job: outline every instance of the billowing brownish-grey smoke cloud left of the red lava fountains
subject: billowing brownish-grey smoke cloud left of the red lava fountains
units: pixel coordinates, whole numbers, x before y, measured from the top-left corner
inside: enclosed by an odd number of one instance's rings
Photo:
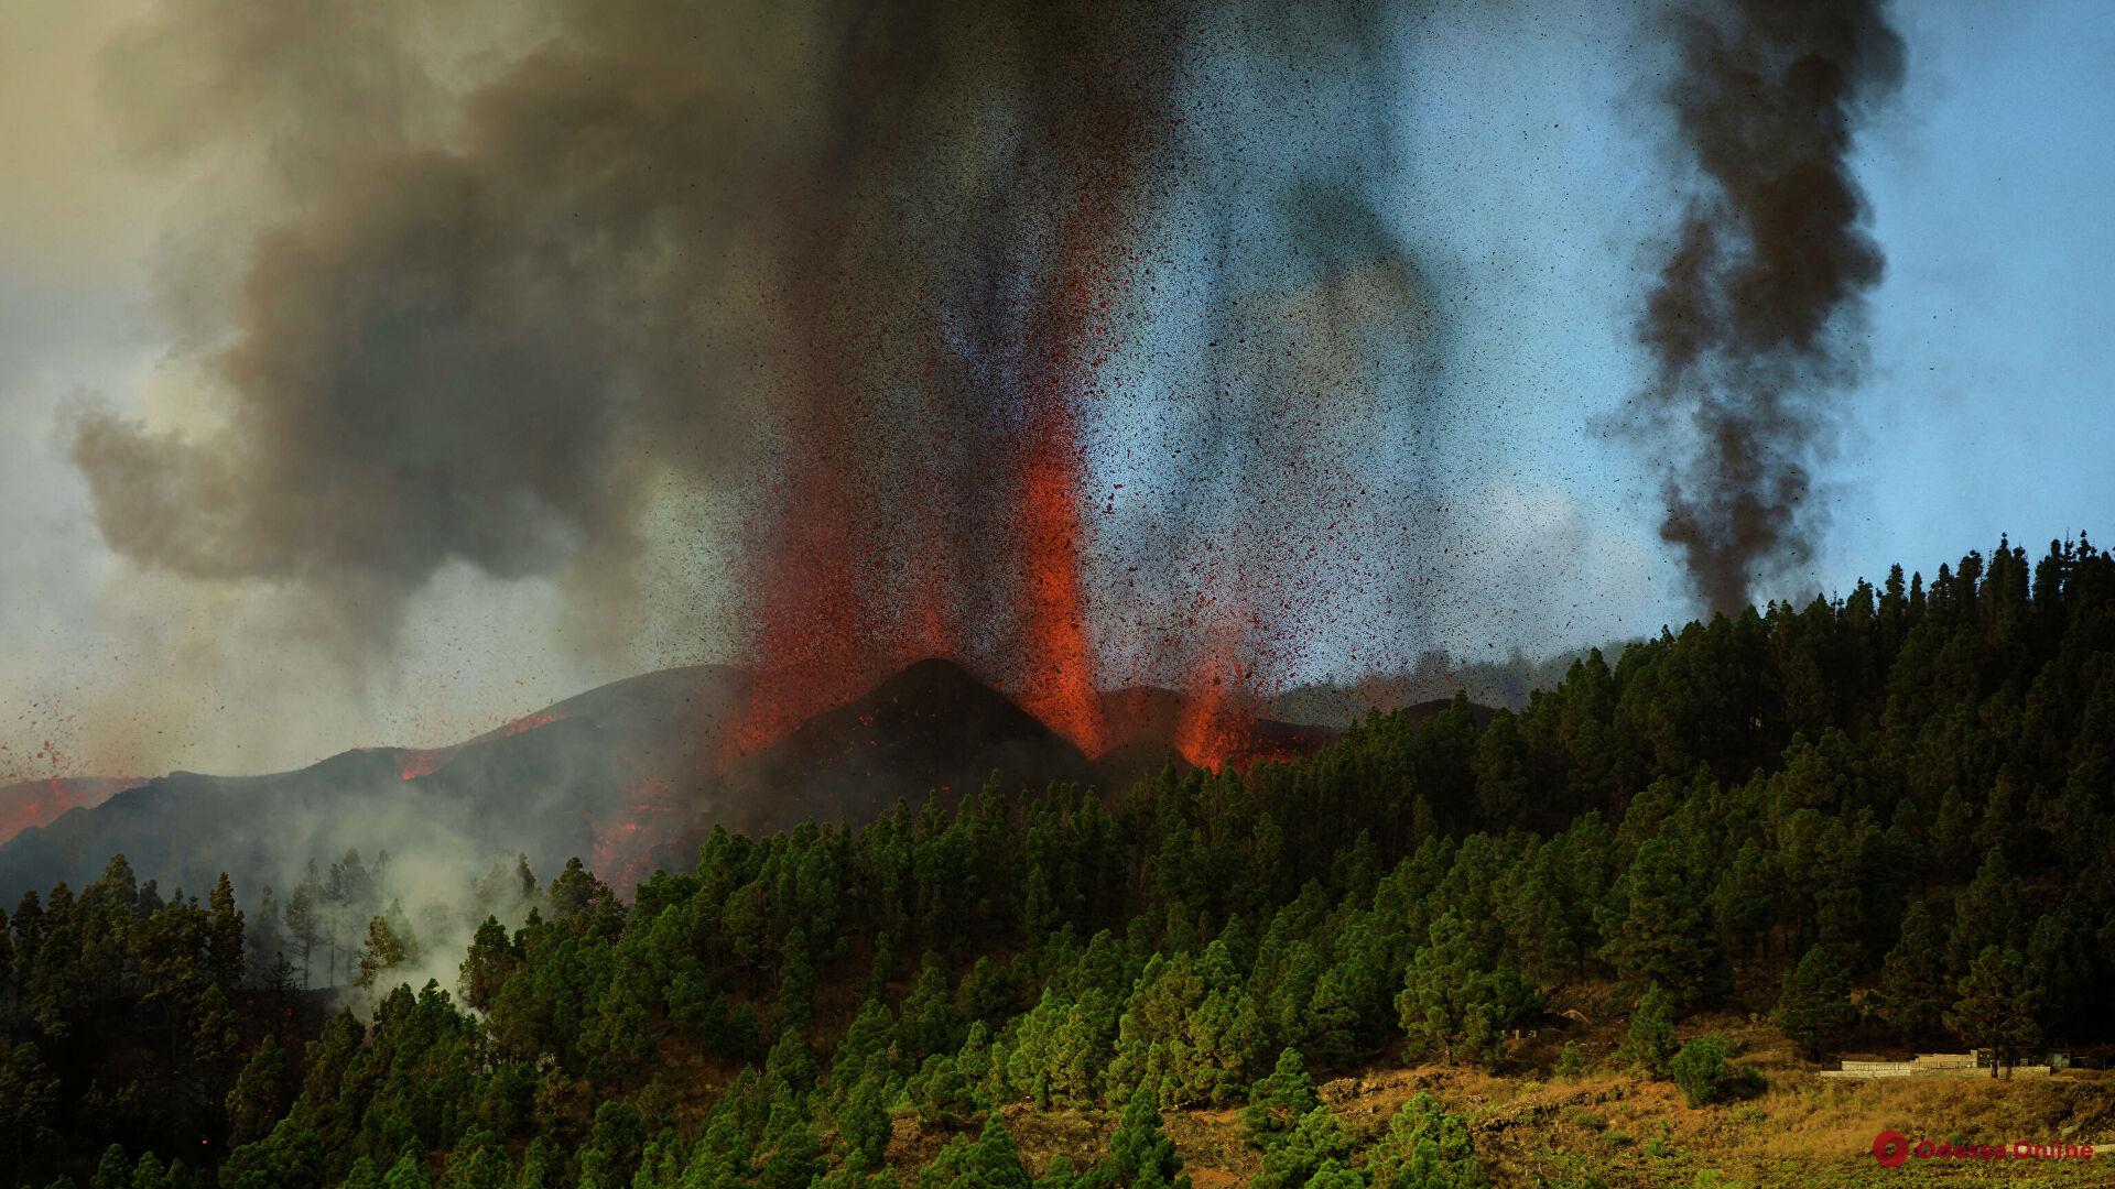
[[[757,118],[768,70],[675,6],[544,19],[467,93],[412,6],[222,0],[114,47],[140,152],[182,171],[260,146],[264,209],[171,254],[167,307],[231,311],[182,347],[218,421],[76,429],[110,546],[302,584],[387,639],[448,563],[582,567],[607,594],[656,476],[740,457],[742,241],[787,140]]]

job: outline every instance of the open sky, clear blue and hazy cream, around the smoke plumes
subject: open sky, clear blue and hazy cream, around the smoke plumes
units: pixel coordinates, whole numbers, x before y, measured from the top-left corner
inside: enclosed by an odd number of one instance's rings
[[[563,647],[550,584],[459,571],[412,607],[389,681],[355,690],[241,656],[228,624],[273,639],[288,607],[178,588],[102,546],[66,461],[68,410],[152,413],[178,385],[159,370],[171,330],[152,277],[182,258],[167,212],[184,195],[123,167],[93,85],[99,42],[137,6],[25,0],[0,38],[0,776],[34,772],[44,738],[106,755],[112,732],[157,738],[140,764],[214,770],[434,743],[689,660],[660,641],[584,658]],[[2077,529],[2115,544],[2115,8],[1933,0],[1895,19],[1908,78],[1857,148],[1887,252],[1870,368],[1821,470],[1815,567],[1764,594],[1840,592],[1895,561],[1929,571],[1999,533],[2030,550]],[[1656,482],[1597,432],[1641,374],[1629,326],[1675,216],[1652,38],[1605,6],[1464,4],[1406,28],[1398,51],[1396,169],[1373,201],[1442,303],[1449,413],[1428,429],[1445,449],[1417,465],[1459,506],[1449,552],[1415,563],[1445,569],[1419,641],[1542,652],[1688,618],[1654,537]],[[1121,480],[1144,465],[1155,413],[1106,419],[1104,442],[1132,455],[1098,468]],[[178,664],[222,677],[182,692],[182,713],[157,709],[157,675]],[[273,721],[290,698],[330,713]]]

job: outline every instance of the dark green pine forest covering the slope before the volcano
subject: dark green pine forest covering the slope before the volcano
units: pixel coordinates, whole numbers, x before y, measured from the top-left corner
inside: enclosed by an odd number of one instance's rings
[[[0,1185],[1174,1187],[1197,1111],[1263,1185],[1485,1185],[1436,1098],[1381,1126],[1316,1081],[1519,1068],[1514,1028],[1610,986],[1698,1109],[1753,1085],[1690,1018],[1736,986],[1813,1051],[2109,1039],[2111,823],[2081,542],[1588,654],[1487,726],[717,831],[628,903],[573,863],[436,918],[349,855],[245,912],[118,857],[0,920]],[[438,937],[470,944],[408,986]],[[1688,1151],[1610,1119],[1610,1159]],[[1053,1121],[1064,1159],[1024,1138]]]

